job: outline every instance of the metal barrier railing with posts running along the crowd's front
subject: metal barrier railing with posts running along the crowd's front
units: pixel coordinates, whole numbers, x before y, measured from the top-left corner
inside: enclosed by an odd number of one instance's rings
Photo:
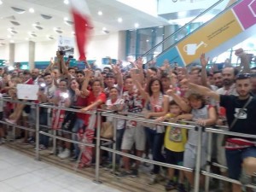
[[[0,100],[1,100],[1,98],[0,98]],[[8,102],[9,101],[11,101],[11,100],[8,100]],[[14,102],[17,102],[17,101],[14,101]],[[18,101],[18,102],[20,102],[20,101]],[[39,131],[39,118],[38,118],[39,117],[39,113],[38,113],[39,107],[43,107],[43,108],[44,107],[45,108],[59,108],[59,109],[62,109],[62,110],[68,110],[68,111],[82,113],[81,111],[79,111],[77,109],[72,109],[72,108],[61,108],[61,107],[55,107],[55,106],[48,106],[48,105],[44,105],[44,104],[35,104],[35,106],[37,108],[37,114],[36,114],[37,115],[36,134],[41,134],[41,135],[44,135],[44,136],[53,137],[55,139],[60,139],[62,141],[66,141],[66,142],[69,142],[69,143],[77,143],[77,144],[82,145],[82,146],[96,147],[96,154],[97,154],[96,155],[97,156],[96,169],[95,169],[95,171],[96,171],[96,183],[101,183],[101,181],[99,180],[99,174],[100,174],[100,172],[99,172],[100,149],[107,150],[107,151],[109,151],[109,152],[111,152],[113,154],[123,155],[123,156],[129,157],[129,158],[134,159],[134,160],[140,160],[140,161],[148,162],[148,163],[151,163],[151,164],[154,164],[154,165],[158,165],[158,166],[166,166],[166,167],[171,167],[173,169],[183,170],[183,171],[186,171],[186,172],[193,172],[193,170],[188,168],[188,167],[170,165],[170,164],[161,163],[161,162],[155,161],[155,160],[147,160],[147,159],[144,159],[142,157],[138,157],[136,155],[126,154],[124,152],[117,151],[117,150],[115,150],[113,148],[105,147],[105,145],[107,145],[107,144],[114,143],[115,137],[113,138],[113,141],[109,141],[108,140],[108,143],[105,143],[105,144],[101,145],[100,144],[100,140],[101,140],[101,137],[100,137],[101,124],[100,124],[100,122],[101,122],[102,116],[105,116],[105,117],[113,117],[114,118],[114,122],[116,122],[116,119],[128,119],[128,120],[134,120],[134,121],[137,121],[137,122],[143,122],[143,123],[149,123],[149,124],[171,125],[171,126],[185,128],[185,129],[195,129],[195,127],[197,126],[196,124],[195,125],[179,125],[179,124],[170,123],[170,122],[157,122],[154,119],[144,119],[143,115],[139,114],[139,113],[132,113],[134,115],[131,115],[131,113],[126,113],[126,115],[122,115],[122,114],[119,114],[119,113],[113,113],[113,111],[108,111],[108,110],[91,111],[91,113],[90,112],[87,112],[87,113],[96,114],[97,115],[97,119],[96,120],[97,120],[98,124],[97,124],[97,129],[96,129],[96,131],[97,131],[97,134],[96,134],[96,144],[93,144],[93,143],[83,143],[83,142],[78,142],[78,141],[67,139],[67,138],[63,138],[63,137],[58,137],[58,136],[55,136],[53,134],[50,134],[50,133],[47,133],[47,132],[44,132],[44,131]],[[137,116],[140,116],[140,117],[137,117]],[[191,121],[183,121],[182,120],[182,121],[179,121],[179,122],[180,123],[187,122],[189,124],[193,124]],[[0,121],[0,123],[8,124],[8,123],[5,123],[4,121]],[[27,131],[34,131],[34,130],[29,129],[29,128],[20,126],[20,125],[14,125],[14,126],[20,128],[20,129],[25,129]],[[237,136],[237,137],[251,137],[251,138],[255,138],[256,139],[255,135],[237,133],[237,132],[233,132],[233,131],[224,131],[224,130],[216,129],[216,127],[218,127],[218,126],[214,126],[214,127],[215,128],[199,126],[199,129],[195,129],[196,131],[198,131],[198,136],[199,136],[198,137],[199,140],[197,141],[198,145],[197,145],[197,156],[196,156],[196,166],[195,166],[195,191],[198,191],[198,189],[199,189],[199,175],[200,175],[200,173],[202,173],[203,175],[205,175],[207,177],[216,177],[218,179],[221,179],[221,180],[224,180],[224,181],[229,181],[231,183],[240,183],[239,181],[236,181],[236,180],[231,179],[229,177],[222,177],[222,176],[219,176],[219,175],[211,173],[211,172],[204,172],[204,171],[200,170],[200,167],[201,167],[201,163],[200,163],[200,160],[201,160],[201,155],[200,155],[201,154],[201,151],[200,151],[201,150],[201,137],[200,136],[201,136],[202,131],[208,132],[208,134],[217,133],[217,134],[225,134],[225,135]],[[227,129],[226,126],[219,126],[218,128]],[[116,129],[116,124],[114,124],[114,129]],[[36,141],[37,141],[37,143],[36,143],[37,144],[36,145],[36,160],[38,160],[38,155],[39,155],[39,149],[38,149],[39,148],[39,144],[38,144],[39,137],[37,137]],[[213,166],[221,166],[223,168],[226,168],[225,166],[218,165],[217,163],[212,163],[212,165]],[[252,184],[247,185],[247,187],[256,189],[256,186],[254,186]]]

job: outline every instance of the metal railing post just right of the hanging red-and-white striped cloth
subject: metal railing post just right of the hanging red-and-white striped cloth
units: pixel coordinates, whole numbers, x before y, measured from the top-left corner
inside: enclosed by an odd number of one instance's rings
[[[97,128],[96,128],[96,168],[95,168],[95,180],[94,182],[97,184],[101,184],[102,182],[99,180],[100,177],[100,150],[101,150],[101,123],[102,123],[102,116],[100,112],[96,113],[96,121],[97,121]]]

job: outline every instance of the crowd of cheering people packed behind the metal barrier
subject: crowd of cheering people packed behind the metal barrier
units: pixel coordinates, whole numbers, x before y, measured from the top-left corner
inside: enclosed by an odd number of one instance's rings
[[[45,103],[57,107],[79,109],[81,113],[63,109],[40,108],[41,131],[56,131],[61,137],[84,143],[94,143],[96,136],[96,109],[111,110],[135,117],[143,114],[145,119],[155,122],[170,121],[185,124],[182,120],[195,121],[198,126],[227,125],[230,131],[256,134],[256,69],[250,68],[246,54],[239,49],[240,67],[226,65],[220,71],[207,70],[208,59],[201,55],[201,65],[192,67],[172,67],[165,61],[161,67],[145,69],[143,60],[131,62],[129,70],[121,62],[111,67],[99,69],[84,61],[85,69],[68,67],[63,55],[51,61],[44,72],[37,68],[15,69],[11,72],[0,68],[1,95],[17,97],[17,84],[38,84],[38,100],[26,101]],[[111,60],[109,60],[111,61]],[[36,108],[24,103],[1,102],[1,119],[9,125],[34,127]],[[113,118],[102,118],[102,122],[113,123]],[[124,153],[143,155],[168,164],[195,169],[198,133],[174,126],[139,123],[136,120],[117,119],[116,148]],[[1,143],[6,137],[6,129],[0,128]],[[16,129],[16,137],[23,143],[33,143],[34,135],[29,131]],[[207,166],[207,132],[202,133],[201,169]],[[40,150],[51,147],[49,137],[40,135]],[[256,172],[255,139],[247,137],[214,137],[212,159],[228,169],[221,169],[223,176],[240,180],[242,184],[253,183]],[[79,168],[91,166],[95,160],[94,148],[57,141],[57,155],[60,159],[78,160]],[[55,151],[53,152],[55,153]],[[80,154],[80,155],[79,155]],[[108,166],[111,164],[111,155]],[[80,158],[79,158],[80,157]],[[102,158],[103,159],[103,158]],[[117,156],[117,165],[122,167],[118,177],[137,177],[140,161],[134,162],[125,156]],[[153,166],[148,184],[158,183],[167,178],[166,190],[193,191],[194,173],[176,172],[160,166]],[[187,180],[190,189],[184,185]],[[203,181],[203,177],[201,177]],[[241,185],[223,182],[221,191],[241,191]]]

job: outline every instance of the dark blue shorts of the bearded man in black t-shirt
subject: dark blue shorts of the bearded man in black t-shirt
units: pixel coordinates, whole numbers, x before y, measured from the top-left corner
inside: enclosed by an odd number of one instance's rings
[[[238,180],[241,174],[241,164],[247,157],[256,158],[256,147],[228,150],[226,149],[227,166],[230,178]]]

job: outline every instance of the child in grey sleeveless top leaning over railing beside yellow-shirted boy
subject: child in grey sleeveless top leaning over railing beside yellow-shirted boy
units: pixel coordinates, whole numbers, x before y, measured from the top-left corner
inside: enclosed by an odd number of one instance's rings
[[[216,110],[206,104],[205,97],[192,93],[188,97],[189,104],[192,108],[191,113],[181,114],[175,118],[175,122],[180,119],[194,120],[198,125],[214,125],[216,122]],[[195,169],[196,151],[197,151],[198,131],[189,130],[188,143],[185,146],[183,166]],[[207,164],[207,132],[202,133],[201,143],[201,168]],[[190,185],[194,186],[193,172],[185,172]]]

